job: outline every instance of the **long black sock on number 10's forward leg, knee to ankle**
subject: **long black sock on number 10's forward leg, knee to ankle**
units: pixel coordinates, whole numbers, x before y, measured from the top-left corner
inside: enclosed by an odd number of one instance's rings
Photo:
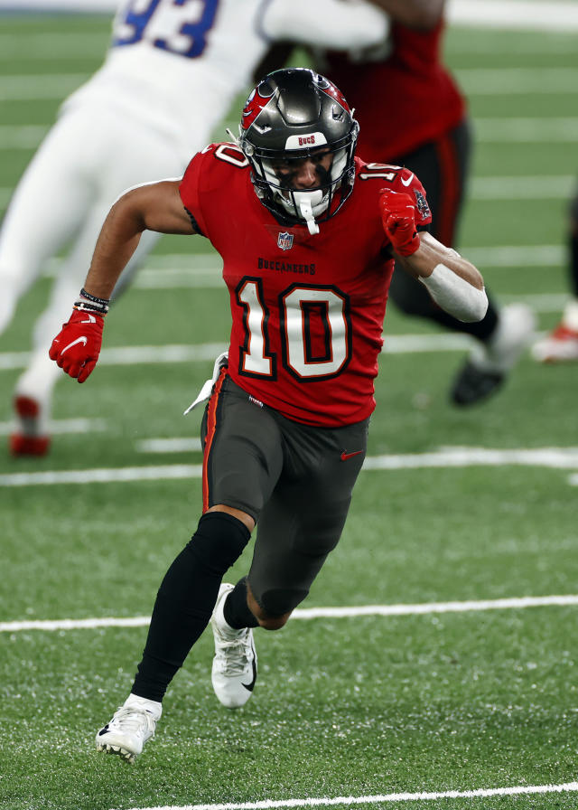
[[[250,532],[237,518],[209,512],[166,572],[154,603],[133,694],[162,701],[191,646],[209,624],[220,581],[247,545]]]

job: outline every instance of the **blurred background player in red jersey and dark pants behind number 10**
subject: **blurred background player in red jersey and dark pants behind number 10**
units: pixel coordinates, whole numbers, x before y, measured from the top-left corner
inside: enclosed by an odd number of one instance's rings
[[[354,52],[316,51],[315,65],[355,108],[358,154],[415,172],[427,189],[430,232],[452,246],[470,165],[471,131],[465,99],[443,64],[445,3],[372,2],[390,16],[387,42]],[[281,67],[287,55],[286,47],[274,48],[262,64]],[[389,297],[407,315],[475,338],[452,382],[451,399],[460,406],[499,391],[534,332],[535,319],[527,306],[501,308],[491,296],[486,316],[479,323],[463,324],[436,306],[406,273],[394,274]]]

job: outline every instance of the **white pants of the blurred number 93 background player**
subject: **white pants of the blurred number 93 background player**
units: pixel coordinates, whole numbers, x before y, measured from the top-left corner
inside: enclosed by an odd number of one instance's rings
[[[122,120],[114,110],[88,112],[82,107],[57,121],[23,174],[0,233],[0,332],[47,260],[74,239],[58,269],[49,305],[34,325],[31,360],[16,383],[16,396],[42,402],[42,422],[49,417],[51,391],[61,376],[47,346],[70,315],[70,301],[78,297],[110,206],[129,186],[179,176],[187,159],[163,133]],[[151,231],[144,234],[126,273],[158,238]],[[45,424],[39,425],[41,432],[45,429]]]

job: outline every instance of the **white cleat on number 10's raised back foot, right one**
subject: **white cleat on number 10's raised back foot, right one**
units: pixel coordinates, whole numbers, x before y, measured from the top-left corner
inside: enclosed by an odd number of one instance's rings
[[[223,583],[210,617],[215,639],[215,656],[211,680],[215,694],[223,706],[238,709],[251,697],[256,682],[256,650],[253,630],[246,627],[235,630],[223,616],[225,599],[233,585]]]

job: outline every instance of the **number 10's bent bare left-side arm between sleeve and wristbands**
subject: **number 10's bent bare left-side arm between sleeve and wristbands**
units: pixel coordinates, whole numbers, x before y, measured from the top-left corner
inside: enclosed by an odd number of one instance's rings
[[[182,205],[180,180],[137,186],[123,194],[102,226],[84,288],[109,298],[143,231],[195,233]]]

